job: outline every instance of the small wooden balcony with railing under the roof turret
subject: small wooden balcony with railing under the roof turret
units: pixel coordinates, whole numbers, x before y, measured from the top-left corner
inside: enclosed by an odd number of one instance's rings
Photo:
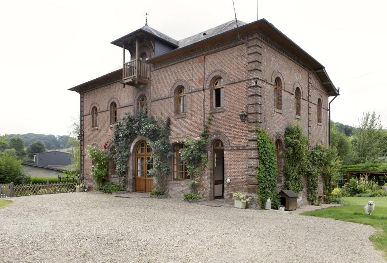
[[[148,84],[148,64],[141,60],[131,60],[123,65],[122,83]]]

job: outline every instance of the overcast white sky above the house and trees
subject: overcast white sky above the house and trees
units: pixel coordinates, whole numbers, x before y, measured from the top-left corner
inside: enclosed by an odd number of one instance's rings
[[[387,126],[385,1],[258,1],[265,18],[325,66],[341,96],[332,119],[357,125],[376,111]],[[235,0],[239,20],[256,0]],[[122,62],[110,44],[145,23],[181,39],[234,19],[232,0],[3,1],[0,4],[0,134],[68,134],[79,94],[68,91]]]

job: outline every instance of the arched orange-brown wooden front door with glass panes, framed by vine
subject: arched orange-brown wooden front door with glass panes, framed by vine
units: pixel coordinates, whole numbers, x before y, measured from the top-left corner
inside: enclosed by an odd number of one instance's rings
[[[140,141],[136,148],[136,171],[135,190],[136,192],[149,193],[153,189],[153,176],[148,174],[152,169],[152,148],[146,141]]]

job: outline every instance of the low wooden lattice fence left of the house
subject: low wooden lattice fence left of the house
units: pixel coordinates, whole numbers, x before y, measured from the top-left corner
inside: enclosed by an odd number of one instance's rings
[[[37,194],[55,194],[75,192],[76,182],[22,184],[0,184],[0,198]]]

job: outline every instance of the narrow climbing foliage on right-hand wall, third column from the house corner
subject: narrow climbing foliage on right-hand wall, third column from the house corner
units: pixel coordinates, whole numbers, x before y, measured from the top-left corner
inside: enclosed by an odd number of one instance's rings
[[[316,204],[318,177],[322,173],[325,152],[322,145],[318,144],[308,153],[308,170],[306,173],[307,199],[311,204]]]

